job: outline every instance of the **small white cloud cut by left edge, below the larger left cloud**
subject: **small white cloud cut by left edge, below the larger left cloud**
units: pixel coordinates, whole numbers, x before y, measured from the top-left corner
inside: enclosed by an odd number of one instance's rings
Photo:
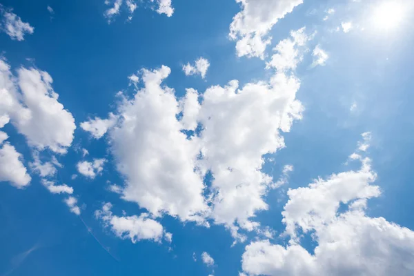
[[[30,184],[31,177],[23,165],[22,156],[8,142],[0,148],[0,181],[10,181],[16,188]]]

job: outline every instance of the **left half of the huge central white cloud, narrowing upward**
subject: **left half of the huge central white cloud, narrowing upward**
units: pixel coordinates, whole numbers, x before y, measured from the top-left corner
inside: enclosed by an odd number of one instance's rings
[[[203,181],[195,172],[199,147],[181,132],[173,90],[161,87],[170,68],[141,73],[144,88],[121,103],[121,122],[109,132],[117,168],[126,177],[123,197],[154,215],[199,220],[207,209]]]

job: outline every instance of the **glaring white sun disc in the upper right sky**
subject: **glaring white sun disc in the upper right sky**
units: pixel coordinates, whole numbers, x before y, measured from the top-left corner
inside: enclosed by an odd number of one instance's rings
[[[395,0],[380,3],[375,7],[373,21],[377,28],[388,30],[400,24],[404,17],[404,7]]]

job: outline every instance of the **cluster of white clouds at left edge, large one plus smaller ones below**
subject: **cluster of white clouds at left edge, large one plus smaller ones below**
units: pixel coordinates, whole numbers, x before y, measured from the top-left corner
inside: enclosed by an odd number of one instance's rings
[[[61,164],[54,156],[43,163],[39,151],[48,148],[51,152],[66,153],[76,128],[75,119],[58,97],[47,72],[19,68],[17,75],[12,75],[8,63],[0,59],[0,128],[11,122],[26,137],[34,156],[30,168],[41,177],[55,175]],[[6,139],[3,137],[2,141]],[[31,178],[21,155],[8,142],[1,148],[1,164],[3,181],[11,181],[20,188],[29,184]]]

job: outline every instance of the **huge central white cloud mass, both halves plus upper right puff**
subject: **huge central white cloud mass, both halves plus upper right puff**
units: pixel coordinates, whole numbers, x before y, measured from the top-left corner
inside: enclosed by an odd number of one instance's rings
[[[302,118],[296,99],[300,82],[293,73],[311,37],[304,28],[291,37],[281,42],[290,48],[277,46],[268,62],[273,76],[241,88],[233,80],[211,86],[202,97],[188,89],[177,99],[162,84],[170,68],[135,75],[134,97],[122,99],[117,114],[110,115],[117,118],[108,130],[110,148],[126,178],[117,193],[154,216],[168,214],[204,225],[213,219],[238,240],[245,238],[240,228],[258,230],[259,223],[251,219],[268,208],[264,196],[286,182],[286,175],[274,183],[262,172],[263,155],[283,148],[281,132]],[[213,175],[209,187],[204,184],[208,173]]]

